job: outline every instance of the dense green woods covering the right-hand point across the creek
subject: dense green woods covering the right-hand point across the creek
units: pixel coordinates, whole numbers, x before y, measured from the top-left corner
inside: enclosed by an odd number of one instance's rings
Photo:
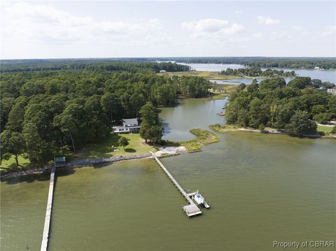
[[[230,96],[225,117],[239,127],[273,127],[293,136],[316,134],[316,122],[336,117],[336,96],[325,86],[335,87],[309,77],[296,77],[288,85],[283,78],[253,80]]]

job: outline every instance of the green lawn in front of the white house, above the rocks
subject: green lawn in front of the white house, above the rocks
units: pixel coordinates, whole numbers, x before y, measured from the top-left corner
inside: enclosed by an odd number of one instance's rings
[[[129,141],[129,145],[125,146],[125,150],[122,146],[118,145],[118,140],[120,136],[124,136]],[[113,150],[119,150],[114,152]],[[139,134],[113,134],[110,133],[106,136],[105,140],[101,143],[87,145],[85,148],[76,152],[76,159],[85,158],[102,158],[120,155],[139,155],[142,153],[147,153],[149,151],[156,151],[151,145],[147,145],[140,137]]]

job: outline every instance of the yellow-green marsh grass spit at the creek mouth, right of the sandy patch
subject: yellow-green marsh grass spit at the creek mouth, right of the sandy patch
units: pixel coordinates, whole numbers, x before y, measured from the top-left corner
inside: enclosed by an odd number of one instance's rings
[[[181,142],[181,145],[186,147],[189,152],[200,150],[203,145],[210,145],[221,140],[218,135],[204,129],[191,129],[190,133],[194,134],[196,138]]]

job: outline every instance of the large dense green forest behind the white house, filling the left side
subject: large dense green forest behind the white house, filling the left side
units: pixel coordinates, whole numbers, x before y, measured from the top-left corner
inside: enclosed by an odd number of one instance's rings
[[[173,106],[178,95],[208,94],[204,78],[158,76],[152,63],[144,71],[139,63],[141,71],[134,73],[134,64],[127,64],[130,70],[123,72],[98,70],[98,63],[94,70],[1,73],[1,159],[25,153],[31,162],[42,163],[52,159],[55,148],[76,150],[102,140],[113,121],[140,113],[151,117],[144,110],[157,113],[152,106]],[[160,131],[160,124],[153,126]]]

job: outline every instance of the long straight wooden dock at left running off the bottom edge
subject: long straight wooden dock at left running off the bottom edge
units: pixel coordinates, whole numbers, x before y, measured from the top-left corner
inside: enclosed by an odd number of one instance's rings
[[[47,202],[47,210],[45,212],[45,221],[44,221],[41,251],[46,251],[48,248],[48,237],[49,237],[51,208],[52,208],[52,194],[54,193],[54,180],[55,180],[55,166],[52,166],[51,172],[50,172],[48,202]]]

